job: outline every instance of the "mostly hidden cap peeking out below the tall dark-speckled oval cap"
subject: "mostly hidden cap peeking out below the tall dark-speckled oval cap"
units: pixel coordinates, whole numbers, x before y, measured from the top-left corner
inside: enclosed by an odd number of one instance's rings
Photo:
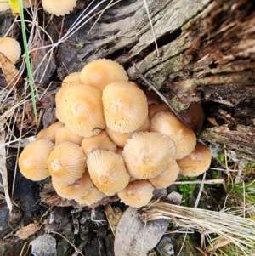
[[[131,139],[134,133],[148,132],[149,129],[150,129],[150,121],[148,117],[146,118],[144,124],[137,130],[133,131],[132,133],[126,133],[126,134],[117,133],[112,131],[110,128],[105,127],[105,131],[108,134],[108,136],[119,147],[124,147],[127,143],[127,139]]]

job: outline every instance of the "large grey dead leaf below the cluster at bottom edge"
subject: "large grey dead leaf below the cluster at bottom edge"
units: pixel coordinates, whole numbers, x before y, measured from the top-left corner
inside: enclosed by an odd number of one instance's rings
[[[116,229],[115,255],[146,256],[161,240],[168,225],[168,219],[144,223],[137,209],[127,208]]]

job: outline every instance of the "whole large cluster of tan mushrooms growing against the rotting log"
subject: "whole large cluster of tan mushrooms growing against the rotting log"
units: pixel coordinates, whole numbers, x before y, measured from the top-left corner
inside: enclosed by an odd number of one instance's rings
[[[194,131],[115,61],[94,60],[65,77],[55,100],[59,122],[25,147],[19,167],[28,179],[51,176],[59,196],[92,205],[117,194],[139,208],[178,174],[199,175],[210,165]],[[199,120],[188,113],[186,122]]]

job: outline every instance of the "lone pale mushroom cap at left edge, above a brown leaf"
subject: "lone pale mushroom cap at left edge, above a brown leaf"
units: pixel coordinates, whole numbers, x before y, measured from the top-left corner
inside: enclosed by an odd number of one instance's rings
[[[14,64],[20,58],[20,43],[14,38],[2,37],[0,38],[0,53]]]

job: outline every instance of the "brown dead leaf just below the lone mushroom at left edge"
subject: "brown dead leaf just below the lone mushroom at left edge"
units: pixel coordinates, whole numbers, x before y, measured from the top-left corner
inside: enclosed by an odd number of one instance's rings
[[[15,65],[2,53],[0,53],[0,64],[2,66],[3,76],[8,82],[8,88],[19,87],[23,82],[23,78],[20,77],[19,71]]]

